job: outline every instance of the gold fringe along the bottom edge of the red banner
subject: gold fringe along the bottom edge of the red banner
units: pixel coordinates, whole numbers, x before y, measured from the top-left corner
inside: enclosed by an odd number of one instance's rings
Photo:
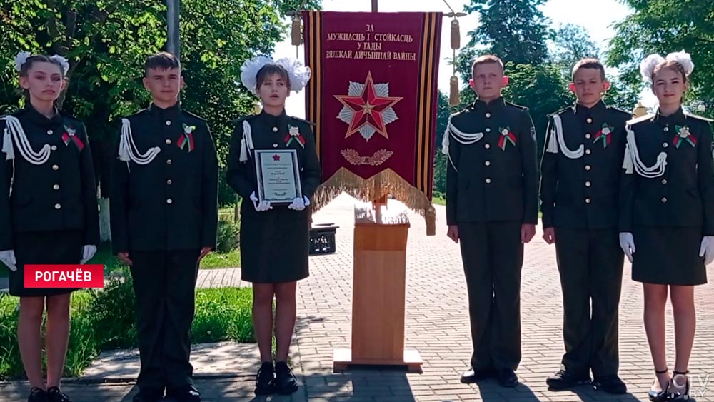
[[[343,191],[366,202],[391,194],[395,199],[403,202],[407,208],[424,217],[426,236],[436,234],[436,210],[431,205],[431,200],[392,169],[385,169],[369,179],[362,179],[351,171],[340,168],[330,179],[321,184],[313,195],[310,200],[313,212],[327,206]]]

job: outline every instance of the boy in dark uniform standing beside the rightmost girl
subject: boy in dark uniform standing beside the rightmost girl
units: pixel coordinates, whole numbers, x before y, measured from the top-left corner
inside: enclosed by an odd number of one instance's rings
[[[551,115],[545,134],[543,238],[555,243],[564,309],[565,356],[546,381],[557,390],[590,383],[592,369],[598,388],[627,391],[618,377],[624,256],[617,203],[630,114],[603,103],[609,85],[600,61],[578,61],[570,84],[578,103]]]

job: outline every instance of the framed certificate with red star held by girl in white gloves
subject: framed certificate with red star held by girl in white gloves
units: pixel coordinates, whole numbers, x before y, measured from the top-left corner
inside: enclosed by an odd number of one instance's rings
[[[303,196],[295,149],[256,149],[258,200],[271,203],[292,203]]]

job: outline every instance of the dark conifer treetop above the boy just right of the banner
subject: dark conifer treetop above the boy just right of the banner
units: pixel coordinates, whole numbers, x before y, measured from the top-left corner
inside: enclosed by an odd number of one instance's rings
[[[538,6],[545,0],[471,0],[468,13],[481,17],[478,28],[470,31],[467,48],[485,46],[504,62],[539,64],[548,59],[548,19]]]

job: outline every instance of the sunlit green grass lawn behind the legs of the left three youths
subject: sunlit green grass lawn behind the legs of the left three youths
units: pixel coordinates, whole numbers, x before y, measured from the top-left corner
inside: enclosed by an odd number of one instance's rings
[[[102,351],[135,348],[134,291],[126,270],[103,291],[72,294],[71,326],[65,376],[82,371]],[[24,378],[17,346],[18,298],[0,295],[0,379]],[[251,316],[252,288],[198,289],[192,343],[255,342]]]

